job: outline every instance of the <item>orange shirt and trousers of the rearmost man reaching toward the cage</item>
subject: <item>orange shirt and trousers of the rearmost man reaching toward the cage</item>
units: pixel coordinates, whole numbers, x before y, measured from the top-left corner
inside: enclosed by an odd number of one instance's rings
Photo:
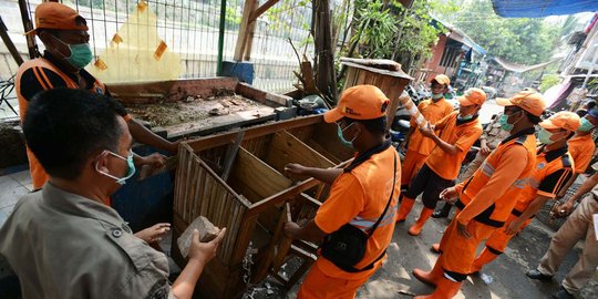
[[[431,124],[444,118],[453,112],[453,105],[444,100],[444,97],[434,102],[432,99],[424,100],[417,105],[417,110],[422,116]],[[409,185],[411,179],[417,174],[423,163],[436,146],[434,141],[426,138],[416,128],[415,121],[411,118],[411,127],[413,133],[409,136],[408,152],[403,161],[401,185]]]

